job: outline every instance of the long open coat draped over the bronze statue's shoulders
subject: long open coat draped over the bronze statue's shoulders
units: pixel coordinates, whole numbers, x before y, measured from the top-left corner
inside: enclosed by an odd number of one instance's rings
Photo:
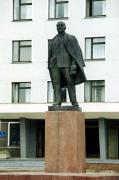
[[[52,73],[51,73],[52,68],[50,67],[50,61],[53,56],[53,54],[52,54],[53,48],[56,48],[55,44],[53,44],[56,37],[57,37],[57,35],[52,40],[50,40],[50,43],[49,43],[48,68],[49,68],[51,80],[52,80]],[[86,76],[85,76],[85,73],[83,70],[83,67],[85,66],[85,64],[84,64],[82,51],[78,44],[78,41],[75,38],[75,36],[65,33],[64,45],[65,45],[66,50],[70,54],[72,60],[74,60],[77,64],[77,73],[75,75],[73,75],[74,83],[75,83],[75,85],[81,84],[86,81]],[[64,78],[61,79],[61,86],[62,87],[66,86],[66,82],[65,82]]]

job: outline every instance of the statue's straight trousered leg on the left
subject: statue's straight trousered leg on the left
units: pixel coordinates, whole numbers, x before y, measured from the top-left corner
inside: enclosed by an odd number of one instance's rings
[[[60,69],[55,67],[52,69],[52,83],[54,88],[54,105],[61,105],[61,78]]]

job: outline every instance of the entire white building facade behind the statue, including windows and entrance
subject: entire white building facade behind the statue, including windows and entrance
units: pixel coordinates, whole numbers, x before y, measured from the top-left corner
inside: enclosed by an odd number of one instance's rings
[[[87,82],[76,92],[86,117],[87,162],[118,163],[119,1],[0,3],[0,158],[44,157],[45,112],[53,101],[48,40],[61,20],[78,39],[86,64]]]

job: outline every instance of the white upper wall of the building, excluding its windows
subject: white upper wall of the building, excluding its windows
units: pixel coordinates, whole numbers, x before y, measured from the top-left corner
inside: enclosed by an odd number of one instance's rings
[[[31,101],[47,103],[48,39],[57,33],[58,20],[48,20],[48,0],[32,0],[32,21],[13,22],[11,0],[0,1],[0,103],[11,103],[11,83],[31,82]],[[67,33],[74,34],[85,54],[86,37],[106,37],[106,60],[86,62],[88,80],[105,80],[105,102],[119,102],[119,1],[107,0],[103,18],[85,18],[85,0],[69,0]],[[12,64],[12,41],[32,40],[32,63]],[[84,101],[84,85],[77,86]]]

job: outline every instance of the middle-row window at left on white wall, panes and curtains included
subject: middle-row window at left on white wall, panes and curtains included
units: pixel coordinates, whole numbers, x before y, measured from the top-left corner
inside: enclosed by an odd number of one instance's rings
[[[31,41],[13,41],[13,62],[31,62]]]

